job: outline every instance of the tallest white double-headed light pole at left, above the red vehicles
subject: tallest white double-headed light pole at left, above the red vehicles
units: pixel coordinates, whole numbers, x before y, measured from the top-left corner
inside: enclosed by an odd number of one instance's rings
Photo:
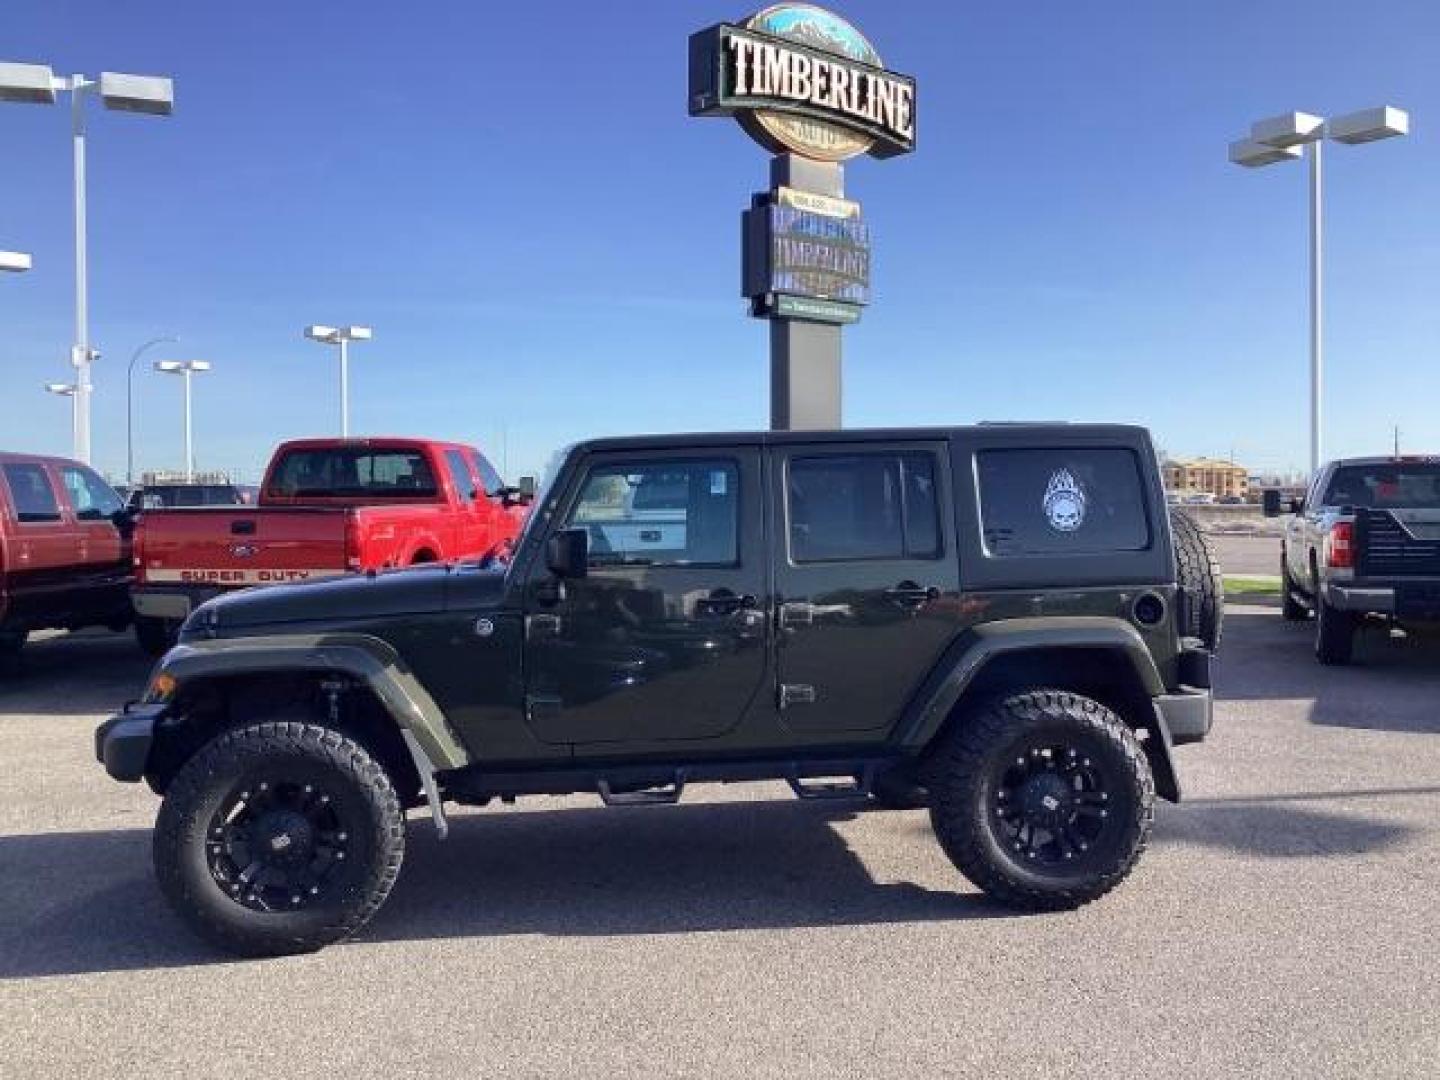
[[[53,105],[55,95],[71,95],[71,148],[75,158],[75,456],[91,459],[89,397],[91,364],[96,353],[89,343],[89,268],[85,240],[85,98],[98,94],[105,108],[120,112],[148,112],[168,117],[174,109],[174,84],[160,75],[101,72],[58,76],[45,63],[0,63],[0,101]]]

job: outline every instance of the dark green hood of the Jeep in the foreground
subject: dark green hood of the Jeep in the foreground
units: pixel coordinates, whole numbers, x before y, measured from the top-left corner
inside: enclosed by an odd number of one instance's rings
[[[458,577],[467,599],[500,596],[500,570],[451,570],[425,566],[379,575],[333,577],[300,585],[272,585],[216,596],[190,616],[187,626],[226,631],[281,622],[351,622],[400,615],[444,612]]]

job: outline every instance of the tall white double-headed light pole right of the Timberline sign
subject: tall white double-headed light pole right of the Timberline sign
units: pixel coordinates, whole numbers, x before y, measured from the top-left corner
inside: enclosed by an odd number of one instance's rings
[[[1336,143],[1374,143],[1410,132],[1410,114],[1391,105],[1348,112],[1325,120],[1309,112],[1284,112],[1250,125],[1250,138],[1230,144],[1230,160],[1257,168],[1277,161],[1295,161],[1310,148],[1310,475],[1320,467],[1322,392],[1323,392],[1323,164],[1325,140]]]

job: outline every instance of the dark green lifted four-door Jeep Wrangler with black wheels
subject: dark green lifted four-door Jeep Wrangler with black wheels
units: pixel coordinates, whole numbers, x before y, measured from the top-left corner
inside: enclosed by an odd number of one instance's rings
[[[160,886],[243,955],[318,949],[406,811],[691,782],[929,805],[1001,903],[1113,888],[1211,724],[1218,573],[1129,426],[598,439],[507,563],[215,599],[96,732],[164,796]]]

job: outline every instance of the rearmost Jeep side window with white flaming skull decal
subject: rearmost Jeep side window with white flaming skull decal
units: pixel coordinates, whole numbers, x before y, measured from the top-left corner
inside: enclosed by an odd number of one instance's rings
[[[995,449],[975,455],[992,557],[1142,552],[1145,482],[1130,449]]]

